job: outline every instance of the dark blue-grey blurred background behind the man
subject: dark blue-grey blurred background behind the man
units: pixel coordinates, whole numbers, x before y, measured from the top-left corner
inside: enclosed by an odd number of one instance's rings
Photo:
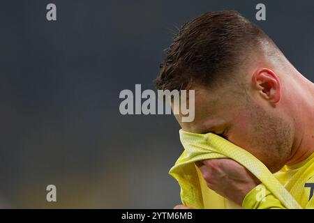
[[[46,20],[47,3],[57,21]],[[267,21],[255,20],[264,3]],[[0,207],[172,208],[179,157],[171,115],[119,113],[119,93],[155,89],[177,29],[238,10],[314,80],[314,1],[1,1]],[[57,202],[46,201],[47,185]]]

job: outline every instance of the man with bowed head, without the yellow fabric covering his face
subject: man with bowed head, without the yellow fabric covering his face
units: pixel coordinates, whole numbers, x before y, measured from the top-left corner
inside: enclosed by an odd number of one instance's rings
[[[183,130],[213,132],[244,148],[281,174],[303,208],[314,208],[314,84],[255,24],[234,11],[205,13],[184,24],[156,86],[195,90],[194,121],[176,115]],[[234,160],[197,166],[211,190],[243,208],[285,208],[269,191],[257,201],[260,182]]]

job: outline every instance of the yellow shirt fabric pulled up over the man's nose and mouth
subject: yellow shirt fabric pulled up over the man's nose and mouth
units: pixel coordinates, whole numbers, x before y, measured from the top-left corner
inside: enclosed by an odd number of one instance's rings
[[[243,148],[213,133],[194,134],[180,130],[181,144],[185,150],[169,174],[181,187],[181,201],[193,208],[241,208],[207,187],[194,162],[199,160],[231,158],[251,171],[286,208],[301,208],[269,169]]]

